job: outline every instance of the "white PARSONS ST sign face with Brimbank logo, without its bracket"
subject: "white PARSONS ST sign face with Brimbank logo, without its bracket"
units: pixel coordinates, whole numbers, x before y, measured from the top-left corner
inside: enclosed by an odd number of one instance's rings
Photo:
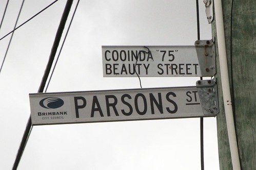
[[[34,93],[32,125],[206,117],[196,87]]]

